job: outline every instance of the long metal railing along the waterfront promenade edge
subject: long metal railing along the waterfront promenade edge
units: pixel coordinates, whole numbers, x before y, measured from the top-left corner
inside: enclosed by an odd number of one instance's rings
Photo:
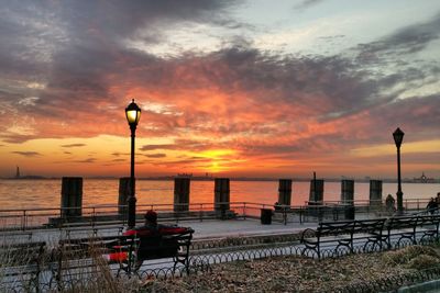
[[[426,209],[427,199],[405,200],[405,211],[421,211]],[[223,206],[228,206],[226,211]],[[273,210],[274,221],[287,223],[316,222],[322,218],[341,219],[348,207],[353,206],[356,214],[377,216],[386,212],[383,202],[341,201],[306,202],[305,205],[273,205],[254,202],[224,203],[189,203],[189,204],[139,204],[136,221],[143,221],[142,215],[154,210],[160,219],[198,219],[208,218],[260,218],[262,210]],[[127,226],[125,205],[94,205],[68,209],[9,209],[0,210],[0,232],[32,230],[35,228],[72,228],[76,226],[98,227],[102,225]],[[125,210],[127,211],[127,210]]]

